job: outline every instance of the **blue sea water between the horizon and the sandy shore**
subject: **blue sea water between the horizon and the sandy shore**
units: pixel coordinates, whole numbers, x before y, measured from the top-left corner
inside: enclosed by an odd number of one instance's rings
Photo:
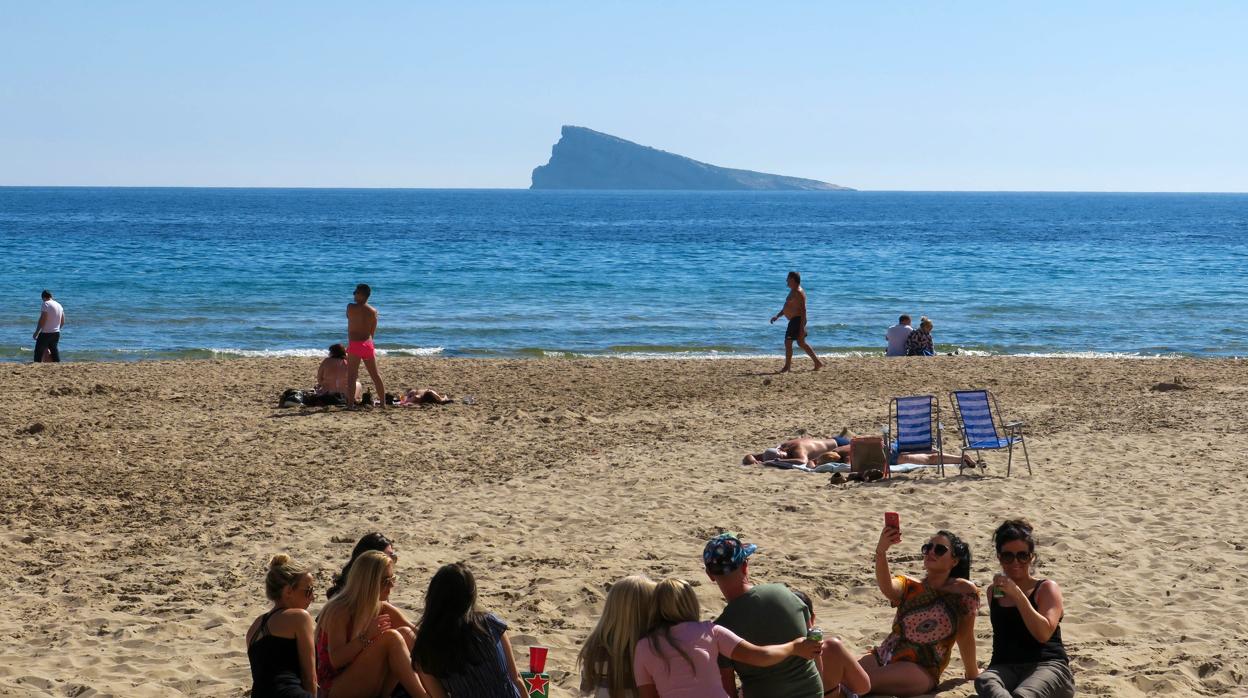
[[[443,356],[1248,355],[1248,195],[0,189],[0,360],[39,292],[66,360],[319,355],[371,283],[378,346]]]

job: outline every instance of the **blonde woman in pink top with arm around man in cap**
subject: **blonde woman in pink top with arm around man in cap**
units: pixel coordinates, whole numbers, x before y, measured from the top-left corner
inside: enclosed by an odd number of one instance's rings
[[[636,643],[633,674],[640,698],[729,698],[719,678],[719,656],[756,667],[779,664],[797,654],[806,659],[820,643],[804,637],[759,647],[710,621],[684,579],[664,579],[654,592],[654,627]]]

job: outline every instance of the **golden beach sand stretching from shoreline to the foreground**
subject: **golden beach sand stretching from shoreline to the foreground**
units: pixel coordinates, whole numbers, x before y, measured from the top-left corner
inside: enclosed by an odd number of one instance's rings
[[[996,524],[1036,523],[1081,694],[1246,693],[1246,362],[797,360],[771,376],[778,362],[383,358],[391,390],[477,402],[275,408],[316,365],[0,367],[0,693],[242,696],[270,554],[319,571],[314,612],[373,529],[401,556],[392,601],[418,614],[432,572],[467,561],[520,664],[550,647],[560,696],[612,581],[678,576],[706,617],[723,607],[699,558],[721,529],[759,544],[756,582],[806,591],[825,633],[865,651],[892,618],[871,564],[886,509],[895,572],[920,574],[919,546],[950,528],[980,583]],[[1176,376],[1189,390],[1151,390]],[[875,432],[896,395],[940,395],[951,426],[963,387],[1028,422],[1033,477],[1016,461],[1005,478],[1003,453],[986,477],[845,486],[738,465],[802,431]],[[986,663],[986,607],[976,632]]]

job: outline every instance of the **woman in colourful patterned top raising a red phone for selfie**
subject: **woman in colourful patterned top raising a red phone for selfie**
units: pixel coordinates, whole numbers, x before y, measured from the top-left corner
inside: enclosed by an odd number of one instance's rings
[[[897,614],[889,637],[861,659],[871,693],[887,696],[921,696],[931,693],[952,658],[957,643],[962,657],[963,676],[976,678],[980,667],[975,661],[975,614],[980,608],[980,592],[970,582],[971,547],[948,531],[938,531],[922,544],[924,578],[892,576],[889,569],[889,548],[901,542],[901,531],[885,526],[875,548],[875,582]],[[835,658],[835,654],[832,656]],[[824,687],[829,696],[851,696],[852,688],[837,678],[839,667],[825,658]],[[851,676],[845,672],[846,676]],[[840,693],[831,688],[840,681]],[[857,693],[866,693],[852,688]]]

